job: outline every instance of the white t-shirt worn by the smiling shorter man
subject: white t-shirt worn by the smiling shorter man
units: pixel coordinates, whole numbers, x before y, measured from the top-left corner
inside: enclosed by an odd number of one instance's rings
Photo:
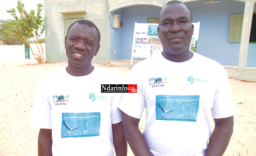
[[[121,121],[122,94],[101,93],[101,84],[119,84],[119,78],[95,67],[87,76],[62,68],[40,80],[30,125],[52,129],[53,155],[113,155],[112,124]]]

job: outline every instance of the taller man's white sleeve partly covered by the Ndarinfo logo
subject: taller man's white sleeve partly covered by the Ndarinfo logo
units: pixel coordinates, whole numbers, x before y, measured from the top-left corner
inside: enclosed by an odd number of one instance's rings
[[[125,114],[137,119],[141,119],[145,108],[142,77],[139,75],[141,74],[137,72],[137,68],[134,66],[129,72],[127,84],[137,84],[137,93],[124,93],[118,106]]]

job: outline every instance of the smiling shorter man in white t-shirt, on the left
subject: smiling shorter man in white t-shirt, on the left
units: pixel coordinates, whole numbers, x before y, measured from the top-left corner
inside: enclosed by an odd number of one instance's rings
[[[70,25],[65,37],[68,66],[47,74],[38,85],[30,124],[40,128],[38,155],[127,155],[122,133],[121,94],[101,93],[115,84],[114,73],[91,64],[100,31],[89,20]],[[111,76],[109,76],[111,75]]]

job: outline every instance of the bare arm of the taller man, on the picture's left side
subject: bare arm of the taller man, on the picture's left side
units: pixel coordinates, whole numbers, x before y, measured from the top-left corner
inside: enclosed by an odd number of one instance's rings
[[[133,118],[122,112],[123,132],[135,156],[152,156],[141,131],[140,119]]]

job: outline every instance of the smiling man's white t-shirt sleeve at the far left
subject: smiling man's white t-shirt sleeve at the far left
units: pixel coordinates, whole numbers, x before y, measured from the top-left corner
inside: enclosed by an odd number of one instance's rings
[[[37,91],[33,112],[29,124],[36,128],[51,129],[51,107],[49,96],[47,95],[47,83],[40,80]]]

